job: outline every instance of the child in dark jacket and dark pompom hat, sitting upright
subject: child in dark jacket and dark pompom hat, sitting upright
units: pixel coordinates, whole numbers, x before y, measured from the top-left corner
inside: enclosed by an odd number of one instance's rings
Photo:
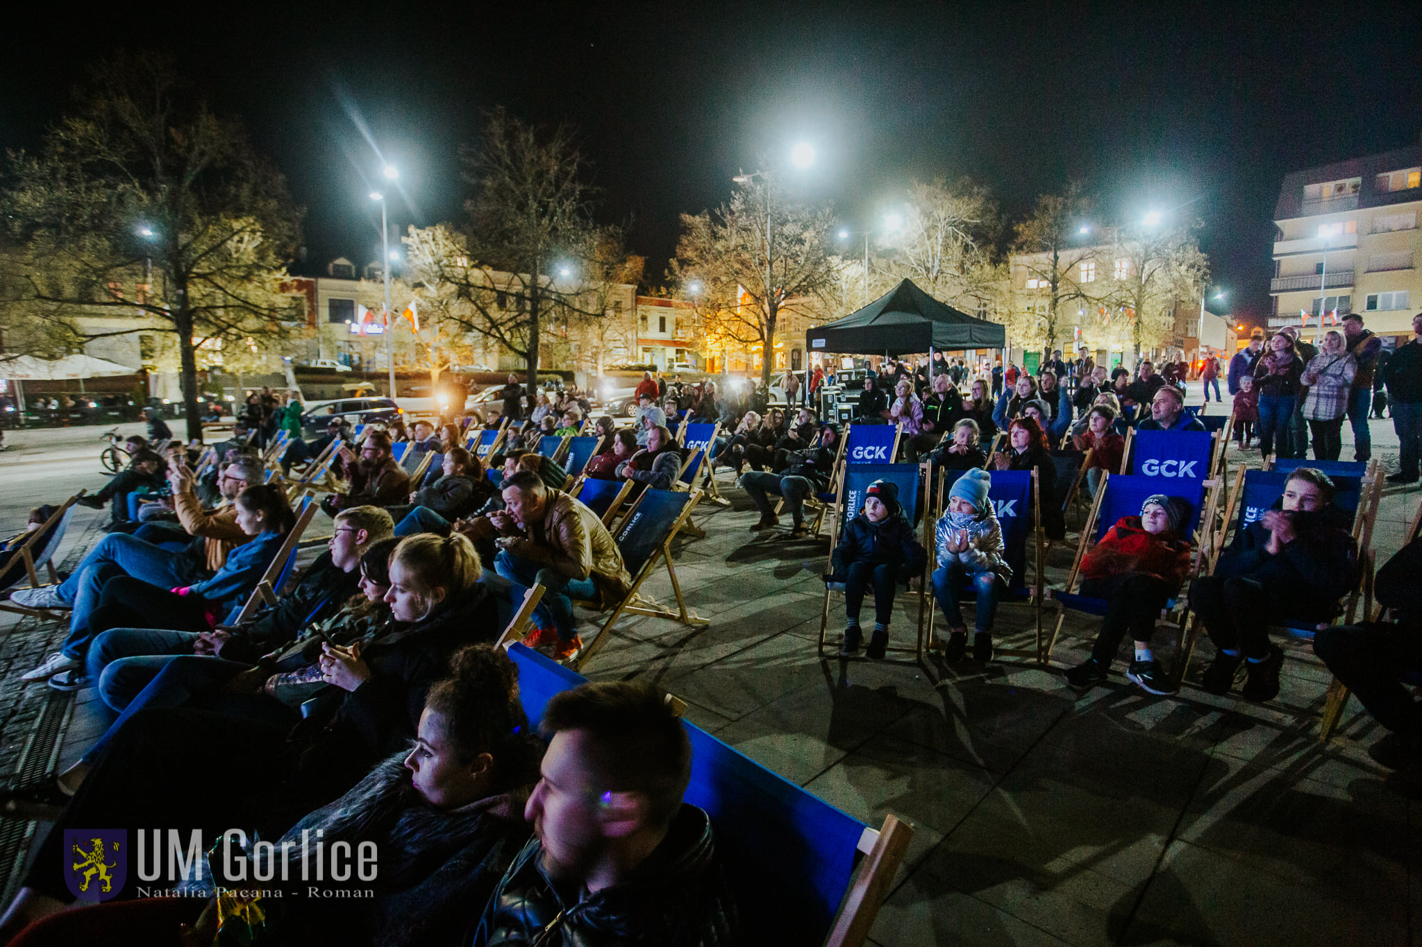
[[[929,554],[899,505],[899,487],[889,480],[875,480],[865,490],[865,508],[849,521],[839,545],[830,557],[833,572],[826,582],[845,585],[845,640],[839,656],[849,657],[859,650],[863,633],[859,630],[859,609],[865,592],[875,591],[875,633],[865,655],[883,657],[889,647],[889,619],[893,616],[893,596],[899,582],[923,574]]]

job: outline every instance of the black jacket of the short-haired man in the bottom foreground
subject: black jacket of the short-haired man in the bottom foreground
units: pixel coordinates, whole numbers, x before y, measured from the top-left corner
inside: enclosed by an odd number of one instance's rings
[[[526,947],[550,929],[547,947],[725,947],[744,943],[735,904],[715,859],[711,819],[683,804],[667,836],[614,887],[562,890],[543,873],[530,841],[503,873],[474,934],[474,947]]]

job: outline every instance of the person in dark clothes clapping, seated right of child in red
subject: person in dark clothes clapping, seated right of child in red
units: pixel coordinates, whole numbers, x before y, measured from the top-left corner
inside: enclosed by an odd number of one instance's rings
[[[1244,697],[1273,700],[1284,652],[1268,640],[1270,622],[1327,622],[1341,611],[1358,582],[1358,544],[1332,494],[1328,474],[1298,467],[1284,496],[1234,534],[1214,574],[1190,585],[1190,609],[1219,649],[1200,681],[1209,693],[1230,693],[1247,664]]]

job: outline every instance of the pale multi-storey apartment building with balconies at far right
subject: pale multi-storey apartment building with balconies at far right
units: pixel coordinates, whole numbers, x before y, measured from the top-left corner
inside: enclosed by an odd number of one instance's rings
[[[1284,177],[1274,209],[1274,300],[1268,325],[1320,319],[1332,325],[1358,312],[1384,341],[1412,335],[1422,310],[1422,145]]]

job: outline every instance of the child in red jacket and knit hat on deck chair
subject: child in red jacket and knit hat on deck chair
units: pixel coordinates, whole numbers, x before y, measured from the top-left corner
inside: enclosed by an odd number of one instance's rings
[[[1180,593],[1190,572],[1190,505],[1179,497],[1155,494],[1140,504],[1139,517],[1121,517],[1081,561],[1082,595],[1106,601],[1101,633],[1091,657],[1066,672],[1066,683],[1088,689],[1106,680],[1121,639],[1130,632],[1135,660],[1126,677],[1152,694],[1175,691],[1150,652],[1150,636],[1166,602]]]

